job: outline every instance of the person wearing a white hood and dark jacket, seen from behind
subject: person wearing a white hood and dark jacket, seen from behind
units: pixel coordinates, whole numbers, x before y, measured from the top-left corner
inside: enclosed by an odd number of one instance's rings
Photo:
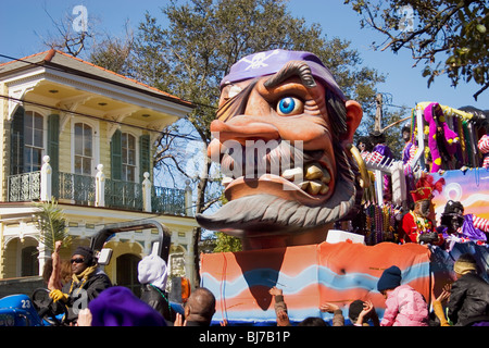
[[[167,271],[166,262],[155,254],[147,256],[138,263],[141,300],[159,311],[167,322],[173,323],[176,313],[172,309],[165,291]]]

